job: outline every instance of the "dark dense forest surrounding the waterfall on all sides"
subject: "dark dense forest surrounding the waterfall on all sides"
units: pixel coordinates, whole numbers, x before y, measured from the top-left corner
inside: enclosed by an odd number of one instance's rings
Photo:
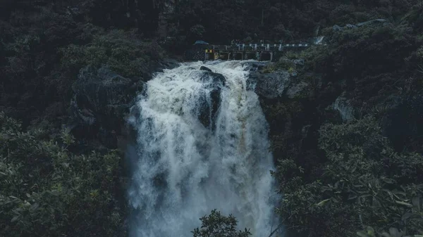
[[[198,39],[317,35],[256,72],[300,88],[259,95],[284,233],[422,236],[422,30],[417,0],[0,1],[0,236],[128,236],[125,119],[152,74]]]

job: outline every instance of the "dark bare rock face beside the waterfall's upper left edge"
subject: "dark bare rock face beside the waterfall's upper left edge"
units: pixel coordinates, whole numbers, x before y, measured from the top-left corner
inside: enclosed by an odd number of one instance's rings
[[[156,71],[176,65],[176,60],[163,60]],[[117,138],[125,126],[125,116],[144,85],[141,77],[122,77],[107,68],[82,69],[72,87],[68,127],[78,137],[98,139],[104,146],[116,148]]]

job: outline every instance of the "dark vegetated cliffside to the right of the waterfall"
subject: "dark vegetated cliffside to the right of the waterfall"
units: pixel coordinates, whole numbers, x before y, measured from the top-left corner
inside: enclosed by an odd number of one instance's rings
[[[266,68],[288,70],[295,67],[288,59],[303,58],[296,80],[312,89],[263,101],[278,158],[277,211],[290,231],[423,233],[421,11],[416,5],[387,24],[326,28],[328,46],[288,53]]]

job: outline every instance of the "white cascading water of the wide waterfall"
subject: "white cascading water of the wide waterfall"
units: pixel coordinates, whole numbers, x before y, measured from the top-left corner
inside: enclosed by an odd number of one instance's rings
[[[247,76],[245,61],[197,62],[147,83],[130,119],[138,156],[129,190],[136,210],[131,237],[192,236],[213,209],[233,214],[253,236],[269,236],[274,165]]]

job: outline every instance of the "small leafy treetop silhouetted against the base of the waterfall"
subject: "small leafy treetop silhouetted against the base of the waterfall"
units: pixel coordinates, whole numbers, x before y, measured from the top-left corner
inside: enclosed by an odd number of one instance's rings
[[[200,218],[201,228],[194,229],[194,237],[248,237],[250,231],[236,231],[237,220],[233,215],[223,216],[219,211],[212,210],[209,215]]]

